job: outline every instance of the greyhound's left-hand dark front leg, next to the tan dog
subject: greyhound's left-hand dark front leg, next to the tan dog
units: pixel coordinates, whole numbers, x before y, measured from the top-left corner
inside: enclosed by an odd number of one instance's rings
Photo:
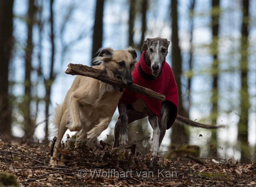
[[[118,140],[119,140],[119,144],[123,146],[128,143],[128,115],[126,113],[125,104],[121,103],[118,106],[118,109],[119,109],[120,121],[121,121],[121,124],[119,122],[120,129],[119,129]]]

